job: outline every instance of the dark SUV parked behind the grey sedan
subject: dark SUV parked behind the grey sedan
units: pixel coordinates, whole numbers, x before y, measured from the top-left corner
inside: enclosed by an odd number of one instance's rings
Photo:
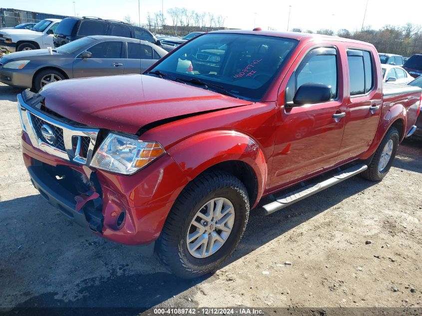
[[[66,17],[60,21],[54,30],[54,47],[59,47],[72,40],[89,35],[130,37],[161,45],[160,41],[146,28],[116,20],[84,16]]]

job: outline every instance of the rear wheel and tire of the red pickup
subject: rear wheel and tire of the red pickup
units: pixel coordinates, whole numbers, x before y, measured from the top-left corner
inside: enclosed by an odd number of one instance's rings
[[[371,162],[368,165],[368,169],[362,173],[362,176],[365,179],[371,181],[380,181],[387,175],[387,173],[390,171],[391,165],[393,164],[394,158],[396,157],[397,148],[399,147],[399,141],[399,131],[396,127],[391,127],[387,132],[386,136],[384,136],[383,140],[381,141],[380,146],[378,146],[374,157],[371,159]],[[385,149],[388,149],[390,144],[392,145],[392,147],[388,163],[385,164],[385,160],[384,164],[380,163],[383,157],[385,157]]]

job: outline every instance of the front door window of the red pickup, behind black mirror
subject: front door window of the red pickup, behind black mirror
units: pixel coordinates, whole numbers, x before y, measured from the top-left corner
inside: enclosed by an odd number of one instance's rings
[[[286,87],[286,102],[293,101],[299,87],[305,83],[323,83],[331,86],[331,98],[337,97],[337,50],[319,47],[308,52],[290,77]]]

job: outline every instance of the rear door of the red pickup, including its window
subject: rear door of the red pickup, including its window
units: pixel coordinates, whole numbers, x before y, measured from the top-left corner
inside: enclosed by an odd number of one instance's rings
[[[383,95],[381,69],[376,67],[372,51],[350,48],[347,61],[350,93],[339,161],[369,148],[378,128]]]

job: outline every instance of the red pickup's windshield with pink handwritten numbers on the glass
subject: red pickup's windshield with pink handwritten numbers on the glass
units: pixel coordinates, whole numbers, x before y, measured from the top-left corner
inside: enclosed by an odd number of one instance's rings
[[[151,71],[218,85],[227,94],[258,101],[297,42],[264,35],[208,33],[186,43]]]

